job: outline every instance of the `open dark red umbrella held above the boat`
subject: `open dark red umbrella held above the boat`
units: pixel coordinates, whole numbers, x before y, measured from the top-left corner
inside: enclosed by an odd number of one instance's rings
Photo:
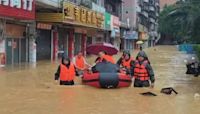
[[[105,51],[108,55],[114,55],[118,53],[118,49],[109,43],[97,43],[97,44],[91,44],[87,46],[86,51],[89,54],[95,54],[98,55],[99,52]]]

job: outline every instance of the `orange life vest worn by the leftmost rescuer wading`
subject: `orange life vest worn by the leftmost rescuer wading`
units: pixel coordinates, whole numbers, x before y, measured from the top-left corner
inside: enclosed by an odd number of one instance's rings
[[[75,77],[75,68],[72,63],[70,63],[69,68],[66,65],[60,65],[60,80],[61,81],[72,81]]]

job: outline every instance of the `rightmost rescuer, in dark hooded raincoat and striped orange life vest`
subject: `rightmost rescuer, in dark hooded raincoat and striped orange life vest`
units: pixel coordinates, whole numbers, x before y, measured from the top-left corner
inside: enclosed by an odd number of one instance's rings
[[[150,85],[154,87],[154,72],[144,51],[140,51],[132,63],[131,76],[135,78],[134,87],[149,87]]]

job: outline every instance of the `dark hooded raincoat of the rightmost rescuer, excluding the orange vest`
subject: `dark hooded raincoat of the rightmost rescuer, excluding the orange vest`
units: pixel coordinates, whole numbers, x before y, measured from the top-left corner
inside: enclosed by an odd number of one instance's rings
[[[144,57],[144,61],[145,60],[148,60],[147,58],[147,55],[144,51],[140,51],[137,55],[137,60],[138,60],[138,57],[139,56],[142,56]],[[139,62],[139,64],[142,64],[144,61],[141,61]],[[134,76],[134,69],[135,69],[135,65],[136,65],[136,62],[132,62],[132,65],[131,65],[131,76]],[[153,68],[151,67],[151,65],[149,63],[146,64],[146,69],[147,69],[147,72],[150,76],[150,80],[151,80],[151,83],[154,83],[155,82],[155,77],[154,77],[154,71],[153,71]]]

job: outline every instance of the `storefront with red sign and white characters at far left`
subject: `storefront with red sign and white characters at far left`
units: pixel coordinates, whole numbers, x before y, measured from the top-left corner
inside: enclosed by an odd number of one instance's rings
[[[35,0],[0,2],[0,66],[31,61],[34,20]]]

